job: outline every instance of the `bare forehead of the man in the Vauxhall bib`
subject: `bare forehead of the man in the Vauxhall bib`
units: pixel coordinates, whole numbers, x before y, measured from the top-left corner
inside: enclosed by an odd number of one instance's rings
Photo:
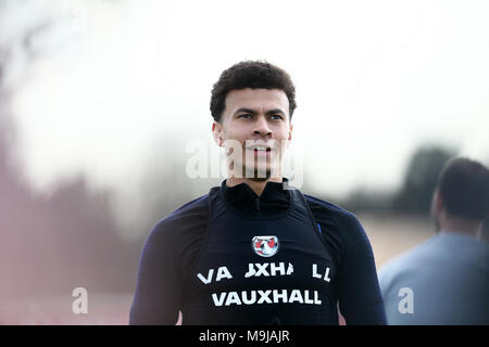
[[[233,114],[240,107],[252,108],[258,112],[266,112],[272,108],[280,108],[286,114],[289,112],[289,100],[285,91],[280,89],[238,89],[231,90],[226,95],[225,114]]]

